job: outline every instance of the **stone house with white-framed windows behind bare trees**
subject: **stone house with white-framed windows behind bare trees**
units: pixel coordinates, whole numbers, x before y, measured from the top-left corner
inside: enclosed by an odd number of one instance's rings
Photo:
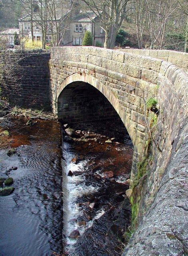
[[[66,14],[64,14],[66,13]],[[40,18],[37,17],[37,14],[34,14],[34,40],[41,41],[42,40],[42,28],[40,26],[41,21]],[[58,22],[59,26],[59,46],[78,46],[82,45],[84,33],[86,30],[90,31],[93,36],[93,45],[96,45],[96,42],[100,42],[102,46],[104,46],[105,33],[100,28],[99,22],[97,21],[97,16],[94,12],[84,12],[80,10],[78,6],[71,11],[67,12],[65,10],[59,10],[57,18],[55,20],[47,21],[47,30],[46,30],[46,44],[53,44],[53,36],[52,29],[55,27],[55,22]],[[68,24],[66,27],[64,25],[64,20],[68,17]],[[30,15],[26,15],[19,20],[19,32],[20,38],[31,38],[31,18]],[[54,25],[53,25],[54,23]],[[49,25],[48,25],[49,24]]]

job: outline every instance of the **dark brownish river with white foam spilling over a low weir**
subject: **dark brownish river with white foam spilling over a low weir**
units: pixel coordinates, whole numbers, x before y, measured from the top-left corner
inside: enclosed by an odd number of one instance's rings
[[[0,197],[0,255],[120,253],[124,227],[114,221],[128,188],[133,153],[124,128],[118,123],[77,126],[74,141],[62,143],[60,123],[25,123],[19,120],[12,129],[9,143],[16,154],[0,151],[0,176],[14,178],[15,188]],[[105,143],[108,137],[116,139]],[[12,166],[18,169],[9,170]],[[123,226],[129,218],[122,216]]]

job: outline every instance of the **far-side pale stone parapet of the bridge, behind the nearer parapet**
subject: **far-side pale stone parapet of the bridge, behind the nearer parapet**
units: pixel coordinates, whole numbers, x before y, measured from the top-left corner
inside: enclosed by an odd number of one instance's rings
[[[119,50],[119,49],[118,49]],[[166,60],[178,66],[188,73],[188,53],[176,52],[172,50],[141,50],[141,49],[120,49],[121,52],[132,53],[142,56],[150,56],[161,60]]]

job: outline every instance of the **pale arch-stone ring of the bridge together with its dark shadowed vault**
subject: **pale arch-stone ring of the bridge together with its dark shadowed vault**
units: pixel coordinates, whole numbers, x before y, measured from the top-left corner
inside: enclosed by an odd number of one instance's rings
[[[132,173],[145,147],[145,130],[137,130],[137,124],[122,107],[118,98],[98,79],[89,75],[73,74],[60,84],[56,92],[56,113],[64,123],[92,122],[100,120],[122,120],[134,146]]]

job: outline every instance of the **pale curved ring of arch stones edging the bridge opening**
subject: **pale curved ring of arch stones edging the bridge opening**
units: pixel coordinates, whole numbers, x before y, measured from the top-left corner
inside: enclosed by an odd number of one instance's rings
[[[128,131],[128,134],[132,140],[132,144],[134,146],[134,154],[133,154],[133,164],[132,164],[132,173],[131,177],[134,178],[134,174],[136,173],[136,162],[138,155],[143,154],[145,141],[140,140],[140,137],[137,135],[137,130],[134,129],[135,125],[132,123],[132,120],[126,115],[126,111],[124,108],[122,108],[120,101],[118,98],[113,94],[112,90],[109,90],[106,88],[106,86],[97,78],[94,76],[91,76],[90,74],[85,73],[74,73],[67,78],[63,80],[63,82],[60,84],[58,89],[56,90],[55,94],[55,102],[56,102],[56,113],[58,113],[58,97],[60,96],[61,92],[66,88],[66,86],[70,85],[73,82],[85,82],[87,84],[90,84],[94,88],[96,88],[99,92],[101,92],[105,98],[110,102],[110,104],[113,106],[113,108],[116,110],[118,116],[122,120],[126,130]],[[136,160],[136,161],[135,161]]]

